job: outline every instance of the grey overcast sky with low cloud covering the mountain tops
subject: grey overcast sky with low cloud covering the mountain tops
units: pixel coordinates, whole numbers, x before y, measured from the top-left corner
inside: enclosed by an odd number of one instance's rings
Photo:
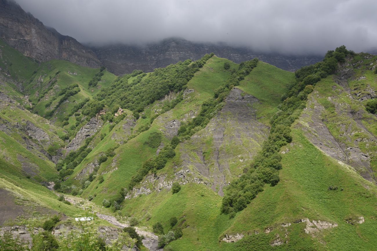
[[[377,46],[376,0],[16,0],[81,43],[168,37],[256,50],[319,53]]]

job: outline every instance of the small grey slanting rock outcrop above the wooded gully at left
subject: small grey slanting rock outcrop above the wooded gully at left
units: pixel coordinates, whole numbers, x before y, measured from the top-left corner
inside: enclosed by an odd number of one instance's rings
[[[80,148],[84,140],[94,135],[101,125],[101,120],[98,117],[92,117],[92,119],[90,119],[86,125],[80,128],[75,138],[67,145],[67,154],[72,150],[76,151],[78,148]]]

